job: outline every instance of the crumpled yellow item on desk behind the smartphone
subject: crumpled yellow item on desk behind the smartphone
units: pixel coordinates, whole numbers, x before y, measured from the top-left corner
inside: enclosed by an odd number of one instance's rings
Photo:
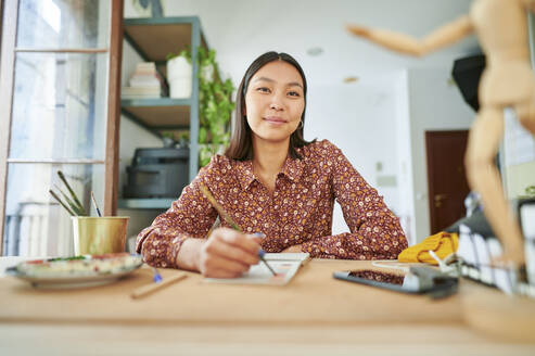
[[[444,259],[448,255],[453,254],[459,247],[459,236],[455,232],[444,232],[432,234],[420,243],[413,246],[405,249],[399,253],[397,259],[399,262],[420,262],[432,265],[438,265],[438,263],[429,254],[429,251],[433,251],[438,258]]]

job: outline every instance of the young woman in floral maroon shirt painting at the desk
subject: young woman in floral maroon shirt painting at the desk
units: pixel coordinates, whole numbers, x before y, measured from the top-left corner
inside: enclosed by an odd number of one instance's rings
[[[407,247],[399,220],[342,152],[303,139],[306,79],[289,54],[268,52],[245,72],[235,125],[178,201],[140,232],[147,263],[231,278],[258,263],[258,252],[308,252],[313,257],[390,259]],[[207,187],[243,233],[220,218]],[[351,232],[332,236],[334,200]],[[264,238],[258,237],[264,236]]]

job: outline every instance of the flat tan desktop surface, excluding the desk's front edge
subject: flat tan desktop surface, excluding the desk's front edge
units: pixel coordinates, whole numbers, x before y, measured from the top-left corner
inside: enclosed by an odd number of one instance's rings
[[[371,267],[370,262],[313,260],[285,287],[213,284],[199,274],[141,300],[136,288],[151,283],[141,268],[114,284],[80,290],[36,290],[0,279],[0,320],[139,321],[211,323],[460,322],[459,296],[431,301],[332,278],[335,270]],[[176,270],[162,270],[165,279]]]

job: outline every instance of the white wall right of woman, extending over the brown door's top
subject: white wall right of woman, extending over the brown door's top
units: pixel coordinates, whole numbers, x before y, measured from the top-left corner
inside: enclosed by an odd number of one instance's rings
[[[430,234],[424,132],[468,129],[474,117],[450,71],[410,68],[309,90],[305,138],[340,147],[400,217],[411,244]],[[384,176],[394,176],[395,186],[381,187]],[[343,231],[347,227],[336,205],[333,233]]]

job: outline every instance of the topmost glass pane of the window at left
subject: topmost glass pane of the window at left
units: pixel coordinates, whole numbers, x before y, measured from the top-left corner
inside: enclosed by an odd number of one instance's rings
[[[106,48],[109,0],[21,0],[17,48]]]

